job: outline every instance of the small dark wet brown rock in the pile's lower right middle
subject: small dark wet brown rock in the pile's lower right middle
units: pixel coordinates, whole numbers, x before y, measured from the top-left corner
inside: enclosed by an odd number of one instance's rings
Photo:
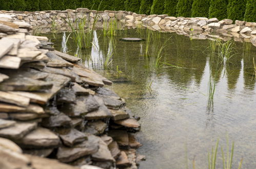
[[[105,132],[107,124],[103,121],[88,122],[85,132],[93,135],[101,135]]]

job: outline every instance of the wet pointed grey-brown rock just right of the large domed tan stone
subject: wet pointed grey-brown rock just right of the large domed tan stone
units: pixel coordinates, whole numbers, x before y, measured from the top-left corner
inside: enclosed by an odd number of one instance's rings
[[[83,142],[87,139],[87,136],[84,133],[76,129],[62,129],[57,133],[60,134],[63,143],[67,146],[73,146],[75,143]]]

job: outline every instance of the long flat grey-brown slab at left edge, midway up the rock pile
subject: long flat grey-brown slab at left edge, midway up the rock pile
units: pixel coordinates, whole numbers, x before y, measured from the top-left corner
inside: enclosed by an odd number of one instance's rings
[[[6,91],[44,91],[51,89],[52,83],[28,77],[9,78],[0,83],[0,90]]]

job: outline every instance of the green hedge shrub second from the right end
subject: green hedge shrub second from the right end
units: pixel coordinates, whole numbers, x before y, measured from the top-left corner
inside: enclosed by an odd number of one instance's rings
[[[228,19],[243,20],[246,8],[246,0],[232,0],[228,4]]]

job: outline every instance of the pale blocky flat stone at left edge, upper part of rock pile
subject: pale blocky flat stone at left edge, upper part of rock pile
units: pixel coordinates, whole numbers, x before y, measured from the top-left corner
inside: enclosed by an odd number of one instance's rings
[[[0,68],[18,69],[21,66],[22,59],[15,56],[4,56],[0,59]]]

